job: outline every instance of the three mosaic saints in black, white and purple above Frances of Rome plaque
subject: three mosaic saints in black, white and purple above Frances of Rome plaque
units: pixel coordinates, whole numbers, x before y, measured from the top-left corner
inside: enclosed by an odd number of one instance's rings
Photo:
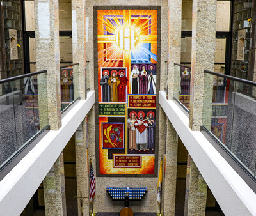
[[[133,65],[130,75],[131,94],[155,95],[156,94],[156,70],[150,65],[141,65],[141,72],[137,65]]]

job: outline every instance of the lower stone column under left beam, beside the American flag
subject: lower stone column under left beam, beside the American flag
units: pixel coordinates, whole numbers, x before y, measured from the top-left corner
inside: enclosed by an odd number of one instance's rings
[[[87,128],[84,119],[76,130],[76,182],[77,182],[77,204],[78,215],[82,215],[81,206],[83,206],[83,215],[89,215],[88,202],[88,158],[87,158]],[[79,197],[81,197],[79,199]],[[81,205],[81,201],[83,202]]]

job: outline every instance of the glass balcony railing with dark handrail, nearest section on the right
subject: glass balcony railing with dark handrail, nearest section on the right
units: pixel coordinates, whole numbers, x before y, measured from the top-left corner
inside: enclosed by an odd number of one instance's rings
[[[256,178],[256,82],[204,72],[212,84],[205,86],[209,89],[204,95],[202,128]]]

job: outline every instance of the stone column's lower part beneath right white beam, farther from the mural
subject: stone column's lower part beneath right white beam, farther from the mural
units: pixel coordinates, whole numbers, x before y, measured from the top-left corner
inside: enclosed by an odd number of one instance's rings
[[[184,212],[184,215],[205,215],[206,198],[207,184],[191,158],[188,187],[188,212],[186,212],[186,214]]]

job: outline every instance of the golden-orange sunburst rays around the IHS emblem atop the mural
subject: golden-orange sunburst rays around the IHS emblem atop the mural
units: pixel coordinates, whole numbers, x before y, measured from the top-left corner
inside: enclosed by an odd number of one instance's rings
[[[104,44],[104,49],[99,49],[99,67],[125,66],[130,73],[131,51],[146,52],[140,49],[140,44],[157,43],[156,20],[157,10],[98,10],[98,43]],[[130,32],[127,49],[124,47],[127,39],[125,31]],[[133,45],[131,33],[135,40]],[[140,58],[139,54],[137,56]]]

